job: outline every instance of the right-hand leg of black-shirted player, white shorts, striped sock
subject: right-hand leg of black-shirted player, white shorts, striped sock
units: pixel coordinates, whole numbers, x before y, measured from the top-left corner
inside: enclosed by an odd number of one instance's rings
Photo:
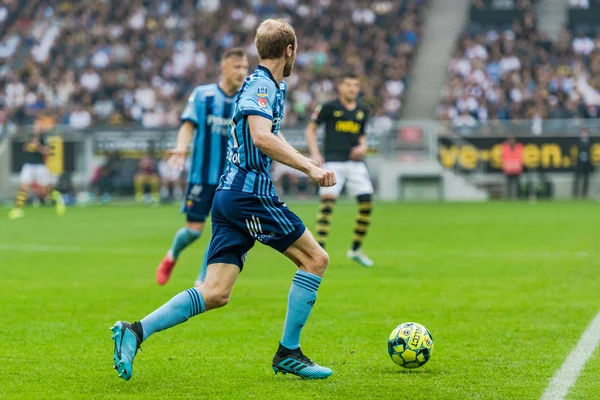
[[[367,235],[371,224],[371,213],[373,211],[373,184],[369,178],[369,171],[362,162],[351,162],[349,164],[348,191],[356,196],[358,203],[358,215],[354,224],[354,239],[348,258],[362,265],[372,267],[373,261],[367,257],[362,250],[363,240]]]

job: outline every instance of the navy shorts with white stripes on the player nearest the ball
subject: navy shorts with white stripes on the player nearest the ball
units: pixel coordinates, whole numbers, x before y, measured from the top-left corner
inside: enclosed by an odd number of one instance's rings
[[[218,190],[212,210],[208,264],[244,267],[246,253],[259,242],[283,253],[306,227],[278,197]]]

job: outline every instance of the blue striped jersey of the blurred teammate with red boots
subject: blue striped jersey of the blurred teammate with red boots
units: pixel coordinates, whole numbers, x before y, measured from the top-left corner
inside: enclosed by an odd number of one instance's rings
[[[196,125],[189,182],[217,185],[227,158],[227,130],[237,94],[228,97],[216,83],[196,87],[181,121]]]

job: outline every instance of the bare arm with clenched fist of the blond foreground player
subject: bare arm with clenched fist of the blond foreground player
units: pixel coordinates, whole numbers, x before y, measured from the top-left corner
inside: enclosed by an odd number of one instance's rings
[[[249,115],[248,126],[250,136],[256,148],[288,167],[304,172],[309,178],[317,181],[320,186],[335,185],[335,175],[316,166],[311,160],[296,151],[285,139],[280,139],[271,133],[273,122],[260,115]]]

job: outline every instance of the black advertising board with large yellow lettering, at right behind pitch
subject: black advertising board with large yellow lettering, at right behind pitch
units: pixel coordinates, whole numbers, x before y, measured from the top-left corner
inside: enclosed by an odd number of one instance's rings
[[[542,172],[572,172],[577,160],[577,136],[518,137],[523,165]],[[600,164],[600,138],[591,137],[592,164]],[[463,137],[460,142],[438,138],[438,158],[445,168],[502,172],[502,137]]]

